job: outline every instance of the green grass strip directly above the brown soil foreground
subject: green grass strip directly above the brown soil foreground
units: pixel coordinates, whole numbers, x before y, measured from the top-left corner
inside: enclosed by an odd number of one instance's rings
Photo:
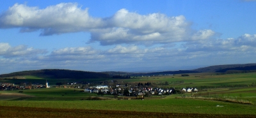
[[[146,98],[147,99],[147,98]],[[253,114],[255,106],[222,101],[163,99],[163,100],[100,100],[100,101],[0,101],[1,106],[120,110],[186,114]],[[217,105],[223,107],[217,107]]]

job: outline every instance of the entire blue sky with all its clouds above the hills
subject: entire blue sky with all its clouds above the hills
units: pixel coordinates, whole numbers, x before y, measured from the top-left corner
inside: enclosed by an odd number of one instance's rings
[[[255,63],[256,1],[1,1],[0,74]]]

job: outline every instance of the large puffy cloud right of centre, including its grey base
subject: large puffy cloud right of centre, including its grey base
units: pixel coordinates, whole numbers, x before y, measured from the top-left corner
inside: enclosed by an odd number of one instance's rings
[[[214,34],[214,31],[211,30],[196,33],[182,15],[177,17],[168,17],[161,13],[140,15],[122,9],[105,21],[112,28],[91,30],[91,41],[100,41],[101,45],[121,43],[154,45],[156,43],[204,40]],[[195,36],[190,38],[191,35]]]

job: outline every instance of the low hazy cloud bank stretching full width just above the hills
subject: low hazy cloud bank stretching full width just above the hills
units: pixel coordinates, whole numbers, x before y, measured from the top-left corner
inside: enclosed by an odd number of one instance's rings
[[[116,68],[155,67],[175,68],[187,65],[230,64],[254,62],[256,34],[244,34],[238,38],[200,40],[182,43],[179,47],[141,47],[116,45],[99,50],[92,47],[67,47],[46,53],[45,50],[23,45],[11,47],[0,43],[0,65],[9,68],[32,66],[33,68],[63,68],[90,71],[116,70]],[[159,63],[161,62],[161,63]],[[76,68],[75,68],[76,67]],[[168,68],[166,68],[168,69]],[[130,70],[132,71],[132,70]],[[133,70],[135,71],[135,70]]]

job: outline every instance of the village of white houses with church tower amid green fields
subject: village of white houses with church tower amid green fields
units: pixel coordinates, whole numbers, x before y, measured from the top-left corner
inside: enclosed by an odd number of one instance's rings
[[[113,83],[110,82],[110,83]],[[108,84],[108,83],[106,83]],[[0,91],[17,91],[21,92],[25,89],[43,89],[49,88],[47,80],[45,84],[31,84],[22,83],[15,85],[13,83],[0,83]],[[198,92],[196,88],[182,88],[175,89],[175,87],[161,88],[151,85],[150,83],[138,83],[138,84],[109,84],[109,85],[90,85],[81,84],[78,82],[70,82],[67,85],[52,85],[51,87],[64,87],[64,88],[74,88],[81,89],[81,92],[96,93],[99,96],[104,96],[104,94],[117,95],[117,96],[163,96],[172,94],[182,94],[186,92]]]

